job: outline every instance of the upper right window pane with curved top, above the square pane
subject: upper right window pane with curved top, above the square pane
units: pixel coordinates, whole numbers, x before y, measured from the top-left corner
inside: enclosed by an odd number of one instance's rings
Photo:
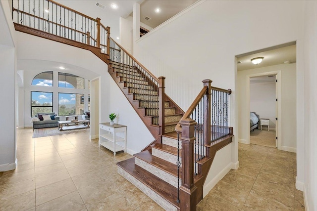
[[[58,73],[58,87],[84,89],[84,79],[68,73]]]

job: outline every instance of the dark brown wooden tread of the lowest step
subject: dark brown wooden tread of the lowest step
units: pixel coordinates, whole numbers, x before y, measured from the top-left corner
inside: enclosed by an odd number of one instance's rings
[[[161,196],[169,203],[174,205],[177,209],[179,209],[179,204],[176,202],[177,188],[168,184],[167,182],[150,173],[149,171],[136,165],[134,163],[134,158],[118,162],[117,166],[130,173],[133,177],[138,179],[144,185],[159,194],[159,196]]]

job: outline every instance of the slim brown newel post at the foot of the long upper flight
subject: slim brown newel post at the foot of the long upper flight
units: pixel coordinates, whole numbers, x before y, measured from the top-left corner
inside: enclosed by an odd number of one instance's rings
[[[159,77],[159,134],[163,135],[165,131],[165,77]]]

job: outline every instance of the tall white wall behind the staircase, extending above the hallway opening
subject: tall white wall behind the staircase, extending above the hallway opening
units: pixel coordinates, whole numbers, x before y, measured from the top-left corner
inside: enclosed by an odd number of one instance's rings
[[[231,162],[236,163],[240,126],[235,55],[303,40],[303,8],[304,1],[198,1],[140,38],[134,56],[154,75],[166,77],[166,93],[183,110],[195,99],[204,79],[211,79],[212,86],[232,89]],[[296,147],[294,137],[290,146]]]

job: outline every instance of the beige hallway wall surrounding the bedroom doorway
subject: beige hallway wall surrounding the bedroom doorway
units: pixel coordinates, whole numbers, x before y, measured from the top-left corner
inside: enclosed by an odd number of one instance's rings
[[[273,65],[264,68],[256,68],[244,71],[238,71],[237,85],[238,85],[238,124],[239,124],[239,140],[248,142],[248,133],[250,132],[250,125],[246,124],[246,80],[248,75],[260,74],[272,71],[281,71],[282,85],[282,109],[281,109],[281,125],[282,137],[281,145],[286,149],[291,148],[296,152],[296,64],[281,64]],[[275,95],[275,93],[274,93]],[[275,97],[274,97],[275,98]],[[250,110],[253,111],[253,110]],[[257,112],[257,110],[255,110]],[[262,117],[262,116],[260,116]],[[285,149],[285,150],[286,150]]]

